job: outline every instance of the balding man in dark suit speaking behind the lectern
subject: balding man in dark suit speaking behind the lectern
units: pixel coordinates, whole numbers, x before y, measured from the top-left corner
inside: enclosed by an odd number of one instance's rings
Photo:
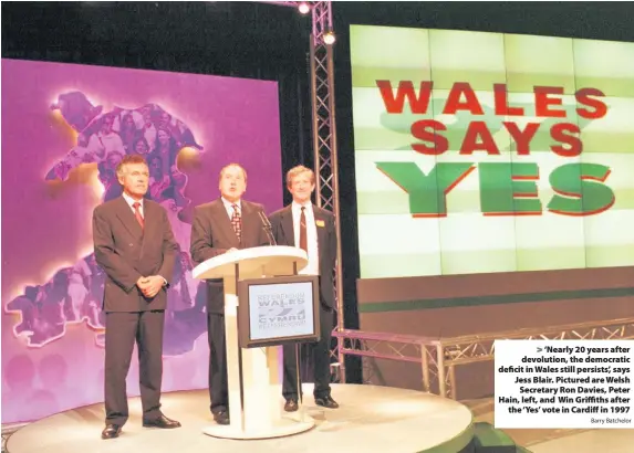
[[[219,190],[219,199],[194,209],[190,253],[195,265],[238,249],[269,245],[258,213],[263,213],[263,207],[242,200],[247,190],[245,169],[237,164],[222,168]],[[217,423],[229,424],[222,280],[207,281],[207,338],[211,413]]]

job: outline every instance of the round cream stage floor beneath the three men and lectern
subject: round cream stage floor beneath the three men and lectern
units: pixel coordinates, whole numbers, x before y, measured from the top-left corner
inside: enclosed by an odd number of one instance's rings
[[[312,384],[304,386],[312,430],[288,438],[235,441],[202,433],[214,424],[205,390],[166,393],[163,411],[183,423],[176,430],[141,425],[141,401],[131,399],[131,418],[118,439],[104,441],[103,404],[62,412],[31,423],[9,438],[9,453],[312,453],[342,451],[456,453],[472,438],[471,411],[454,400],[388,387],[334,384],[335,410],[314,404]],[[283,400],[280,397],[280,405]],[[293,417],[298,417],[297,412]]]

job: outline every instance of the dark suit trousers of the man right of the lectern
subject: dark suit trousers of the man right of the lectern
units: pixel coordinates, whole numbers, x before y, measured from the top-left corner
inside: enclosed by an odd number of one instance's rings
[[[334,326],[334,310],[325,308],[320,304],[320,340],[309,345],[309,357],[313,360],[314,398],[330,396],[330,343]],[[301,389],[301,378],[298,375],[298,356],[295,346],[284,345],[284,377],[282,382],[282,394],[288,399],[298,399],[298,381]]]

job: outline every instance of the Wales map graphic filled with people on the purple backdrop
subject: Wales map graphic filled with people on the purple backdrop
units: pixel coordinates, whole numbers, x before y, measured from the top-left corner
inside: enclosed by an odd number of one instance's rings
[[[163,206],[169,218],[179,259],[167,289],[164,355],[179,356],[194,349],[195,340],[206,331],[206,285],[191,277],[189,250],[191,200],[185,196],[187,175],[178,169],[183,148],[202,151],[191,129],[157,104],[137,108],[114,107],[103,112],[77,91],[60,94],[50,106],[77,133],[75,146],[44,175],[46,181],[65,181],[84,164],[96,164],[103,187],[103,200],[119,197],[122,187],[116,167],[125,155],[143,155],[149,167],[147,199]],[[92,208],[91,208],[92,209]],[[94,253],[72,266],[59,268],[41,285],[24,287],[6,310],[19,314],[15,336],[27,346],[42,348],[64,336],[70,325],[85,325],[94,331],[95,344],[104,347],[105,314],[102,312],[105,273]]]

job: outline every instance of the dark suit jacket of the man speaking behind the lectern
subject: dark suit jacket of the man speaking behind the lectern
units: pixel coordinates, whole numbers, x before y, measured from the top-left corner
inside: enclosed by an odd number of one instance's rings
[[[191,222],[191,260],[198,265],[229,249],[250,249],[269,245],[267,232],[258,211],[264,212],[262,204],[241,200],[242,241],[231,225],[231,220],[221,199],[197,206]],[[222,280],[207,281],[207,313],[225,313]]]

